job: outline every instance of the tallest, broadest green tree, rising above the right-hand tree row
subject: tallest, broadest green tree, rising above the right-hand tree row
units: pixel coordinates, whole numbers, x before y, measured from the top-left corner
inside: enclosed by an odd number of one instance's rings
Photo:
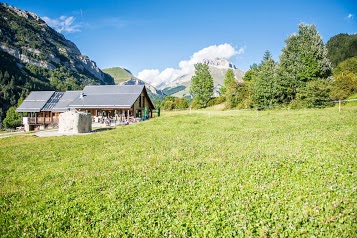
[[[285,40],[279,65],[281,99],[289,103],[296,98],[299,88],[317,79],[331,75],[331,63],[327,49],[314,25],[301,23],[297,34]]]

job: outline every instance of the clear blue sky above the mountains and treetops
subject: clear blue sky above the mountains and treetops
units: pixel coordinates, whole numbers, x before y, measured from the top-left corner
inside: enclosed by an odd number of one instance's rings
[[[99,67],[122,66],[135,75],[178,69],[210,46],[210,54],[233,48],[223,55],[246,71],[266,50],[278,60],[301,22],[315,24],[325,43],[339,33],[357,33],[356,0],[5,2],[44,17]],[[220,45],[225,47],[214,47]]]

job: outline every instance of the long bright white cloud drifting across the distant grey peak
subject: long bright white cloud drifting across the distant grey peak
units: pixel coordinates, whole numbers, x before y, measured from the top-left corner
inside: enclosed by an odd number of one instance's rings
[[[211,45],[195,52],[189,60],[179,62],[179,69],[166,68],[163,71],[158,69],[144,69],[138,73],[138,78],[145,82],[158,86],[162,83],[169,83],[177,77],[188,74],[194,71],[194,65],[202,62],[204,59],[213,60],[215,58],[223,58],[229,60],[235,55],[243,54],[245,48],[240,48],[238,51],[230,44]]]

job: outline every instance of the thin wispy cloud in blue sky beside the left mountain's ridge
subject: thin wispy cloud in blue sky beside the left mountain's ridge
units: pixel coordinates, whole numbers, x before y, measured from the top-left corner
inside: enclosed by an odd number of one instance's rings
[[[67,33],[73,33],[73,32],[79,32],[80,31],[80,24],[74,24],[74,21],[76,18],[70,16],[60,16],[58,19],[51,19],[49,17],[42,17],[42,19],[52,28],[54,28],[56,31],[62,33],[62,32],[67,32]]]

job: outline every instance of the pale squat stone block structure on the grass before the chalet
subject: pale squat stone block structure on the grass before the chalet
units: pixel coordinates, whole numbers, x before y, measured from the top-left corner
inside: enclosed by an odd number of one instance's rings
[[[68,111],[60,114],[58,133],[88,133],[92,131],[90,113]]]

